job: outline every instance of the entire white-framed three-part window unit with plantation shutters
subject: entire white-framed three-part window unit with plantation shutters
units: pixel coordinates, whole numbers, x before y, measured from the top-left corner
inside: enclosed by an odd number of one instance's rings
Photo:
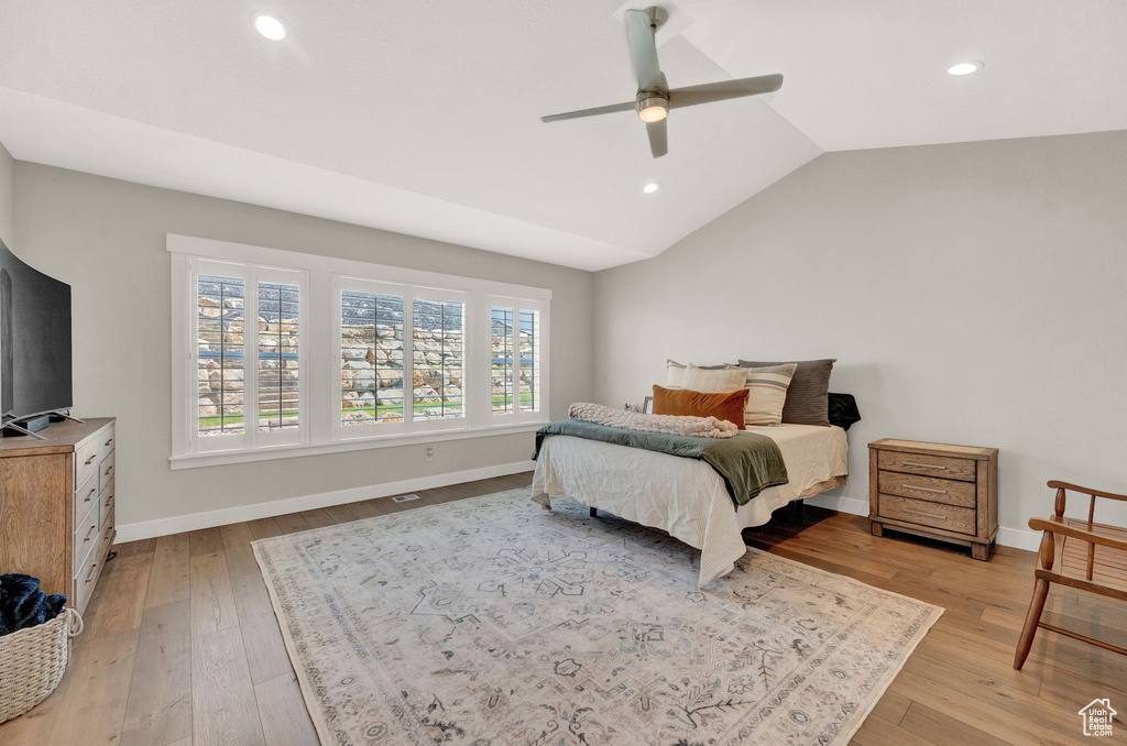
[[[551,293],[222,241],[172,252],[172,465],[533,429]]]

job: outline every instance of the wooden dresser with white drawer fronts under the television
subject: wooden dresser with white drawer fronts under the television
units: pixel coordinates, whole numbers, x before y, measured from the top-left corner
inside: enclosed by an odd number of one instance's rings
[[[86,611],[114,543],[114,419],[0,438],[0,572],[39,578]]]

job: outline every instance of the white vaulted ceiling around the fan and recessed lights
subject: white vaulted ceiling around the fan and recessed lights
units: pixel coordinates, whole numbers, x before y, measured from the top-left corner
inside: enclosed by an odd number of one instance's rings
[[[1127,128],[1119,0],[680,0],[674,87],[758,99],[636,116],[622,0],[6,2],[0,142],[20,160],[557,264],[654,256],[824,150]],[[640,6],[639,6],[640,7]],[[255,11],[291,36],[259,37]],[[985,69],[944,73],[955,61]],[[649,180],[662,183],[642,195]]]

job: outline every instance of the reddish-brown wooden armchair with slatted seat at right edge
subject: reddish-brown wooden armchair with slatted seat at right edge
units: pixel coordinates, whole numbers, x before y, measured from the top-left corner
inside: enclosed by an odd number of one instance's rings
[[[1026,623],[1021,628],[1021,637],[1018,638],[1018,651],[1013,658],[1013,667],[1018,670],[1021,670],[1029,656],[1029,649],[1033,647],[1037,628],[1127,655],[1127,649],[1119,646],[1041,621],[1041,611],[1045,609],[1045,597],[1048,595],[1050,583],[1059,583],[1117,601],[1127,601],[1127,529],[1094,521],[1095,498],[1127,501],[1127,495],[1115,495],[1059,481],[1050,481],[1048,486],[1057,491],[1055,515],[1047,521],[1044,518],[1029,521],[1030,529],[1044,533],[1040,549],[1037,551],[1037,568],[1033,570],[1036,578],[1033,597],[1029,602],[1029,612],[1026,614]],[[1065,517],[1066,490],[1091,496],[1086,521]]]

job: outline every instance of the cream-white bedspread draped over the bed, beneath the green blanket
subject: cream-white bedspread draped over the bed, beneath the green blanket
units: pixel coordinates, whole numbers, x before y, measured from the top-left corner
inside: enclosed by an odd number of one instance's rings
[[[703,586],[730,572],[744,556],[742,530],[763,525],[777,508],[849,473],[845,430],[840,427],[779,425],[749,432],[779,444],[790,481],[763,490],[738,510],[724,480],[703,461],[569,435],[544,438],[532,499],[547,508],[549,496],[570,497],[668,532],[701,550]]]

